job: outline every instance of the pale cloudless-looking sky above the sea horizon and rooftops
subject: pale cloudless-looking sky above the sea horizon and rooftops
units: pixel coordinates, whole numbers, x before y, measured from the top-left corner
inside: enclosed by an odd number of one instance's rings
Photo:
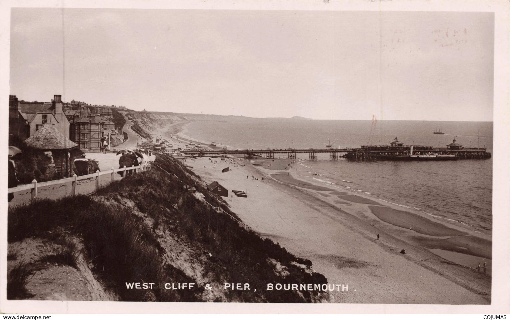
[[[10,45],[25,101],[493,120],[493,13],[13,8]]]

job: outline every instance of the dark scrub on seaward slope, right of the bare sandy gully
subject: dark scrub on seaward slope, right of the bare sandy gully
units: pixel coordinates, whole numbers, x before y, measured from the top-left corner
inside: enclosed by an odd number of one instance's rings
[[[148,214],[158,225],[166,224],[196,252],[211,252],[214,261],[208,264],[208,268],[218,282],[249,282],[258,289],[257,293],[251,290],[237,292],[232,297],[251,302],[307,302],[317,297],[317,292],[308,291],[264,292],[267,283],[322,284],[327,283],[327,279],[318,273],[304,272],[296,266],[310,267],[310,260],[296,257],[270,239],[261,239],[256,232],[245,229],[231,217],[217,213],[195,198],[183,188],[185,183],[190,184],[192,180],[189,177],[188,180],[184,179],[185,173],[179,162],[166,155],[158,155],[156,163],[165,171],[176,174],[180,181],[170,180],[167,173],[153,169],[127,177],[125,181],[114,182],[100,190],[99,194],[115,193],[129,198],[141,212]],[[212,205],[228,210],[207,190],[202,190],[202,193]],[[278,261],[290,274],[285,278],[276,274],[268,258]]]

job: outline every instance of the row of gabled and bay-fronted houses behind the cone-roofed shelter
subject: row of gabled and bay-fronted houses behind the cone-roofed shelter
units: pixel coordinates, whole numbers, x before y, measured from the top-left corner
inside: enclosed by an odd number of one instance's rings
[[[111,109],[80,103],[64,105],[61,95],[54,95],[50,103],[25,103],[9,96],[9,134],[25,141],[43,125],[51,124],[81,150],[96,152],[123,141],[122,132],[116,130],[108,115]]]

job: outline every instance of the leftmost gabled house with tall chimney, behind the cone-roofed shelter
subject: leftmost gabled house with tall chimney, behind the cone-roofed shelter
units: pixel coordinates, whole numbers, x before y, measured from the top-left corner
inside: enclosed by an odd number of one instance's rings
[[[16,96],[9,96],[9,134],[25,140],[44,124],[52,124],[69,139],[69,120],[61,95],[54,95],[51,103],[20,103]]]

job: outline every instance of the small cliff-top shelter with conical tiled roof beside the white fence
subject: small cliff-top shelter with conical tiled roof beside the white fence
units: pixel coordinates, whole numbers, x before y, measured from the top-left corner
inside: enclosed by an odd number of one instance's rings
[[[50,123],[43,124],[24,143],[32,149],[50,152],[60,178],[72,176],[73,170],[69,152],[71,149],[78,147],[78,144],[65,137],[57,130],[57,126]]]

